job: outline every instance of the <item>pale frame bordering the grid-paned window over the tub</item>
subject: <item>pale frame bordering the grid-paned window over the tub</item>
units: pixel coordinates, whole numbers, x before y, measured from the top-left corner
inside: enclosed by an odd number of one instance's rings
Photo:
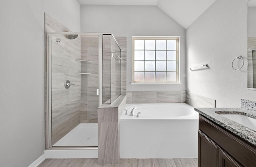
[[[135,82],[134,81],[134,40],[144,40],[144,41],[145,40],[176,40],[176,82],[171,82],[171,81]],[[144,51],[145,51],[145,45],[144,45]],[[155,48],[155,51],[157,51],[156,48]],[[166,51],[167,51],[167,48],[166,48]],[[145,52],[144,52],[144,57],[145,57]],[[145,65],[145,59],[143,61]],[[167,59],[165,61],[167,62]],[[155,55],[155,62],[156,62],[156,55]],[[142,72],[145,73],[145,71],[142,71]],[[156,72],[156,69],[154,72]],[[165,72],[167,72],[167,67]],[[148,84],[148,83],[180,84],[180,37],[179,36],[132,36],[132,83],[131,84],[143,84],[143,83],[144,84]]]

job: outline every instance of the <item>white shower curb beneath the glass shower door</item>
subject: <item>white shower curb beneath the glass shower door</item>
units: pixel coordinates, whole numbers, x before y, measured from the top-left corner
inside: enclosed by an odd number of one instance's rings
[[[98,149],[45,150],[46,159],[98,158]]]

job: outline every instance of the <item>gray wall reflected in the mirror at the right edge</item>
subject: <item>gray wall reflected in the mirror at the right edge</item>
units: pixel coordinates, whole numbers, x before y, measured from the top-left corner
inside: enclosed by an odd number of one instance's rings
[[[256,37],[256,7],[248,8],[248,37]]]

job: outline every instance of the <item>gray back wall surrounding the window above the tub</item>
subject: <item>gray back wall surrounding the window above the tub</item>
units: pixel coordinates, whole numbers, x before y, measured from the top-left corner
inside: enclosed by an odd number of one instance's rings
[[[127,37],[127,90],[185,90],[186,30],[156,6],[81,6],[82,32]],[[131,85],[132,36],[180,36],[180,81],[175,85]]]

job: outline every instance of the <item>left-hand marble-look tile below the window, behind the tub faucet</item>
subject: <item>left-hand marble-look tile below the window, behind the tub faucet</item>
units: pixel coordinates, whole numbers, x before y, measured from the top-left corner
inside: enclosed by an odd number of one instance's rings
[[[132,103],[156,103],[156,91],[133,91]]]

